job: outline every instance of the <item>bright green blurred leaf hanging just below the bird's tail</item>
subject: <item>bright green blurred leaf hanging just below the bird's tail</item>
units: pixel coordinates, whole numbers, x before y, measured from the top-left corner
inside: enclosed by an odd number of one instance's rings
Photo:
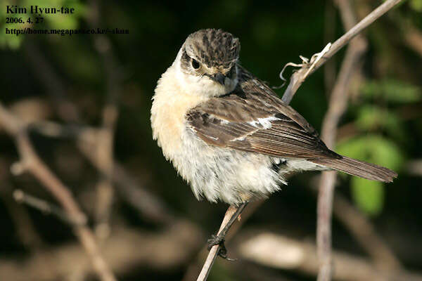
[[[359,209],[370,216],[376,216],[383,210],[383,183],[354,177],[352,178],[352,198]]]

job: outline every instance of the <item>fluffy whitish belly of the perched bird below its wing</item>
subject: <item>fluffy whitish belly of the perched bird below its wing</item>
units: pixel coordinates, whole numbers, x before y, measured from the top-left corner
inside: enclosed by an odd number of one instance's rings
[[[181,144],[172,162],[198,199],[240,204],[266,197],[285,183],[274,170],[274,157],[207,145],[187,128]]]

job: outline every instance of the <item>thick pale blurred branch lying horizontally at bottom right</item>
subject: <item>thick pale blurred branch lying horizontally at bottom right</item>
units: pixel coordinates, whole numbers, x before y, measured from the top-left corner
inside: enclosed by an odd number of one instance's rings
[[[295,270],[301,274],[312,276],[318,273],[319,259],[316,255],[316,245],[312,242],[260,230],[247,232],[244,237],[246,238],[243,238],[237,247],[242,260],[253,261],[269,268]],[[422,280],[422,275],[418,271],[378,270],[370,259],[342,251],[333,252],[333,261],[335,264],[333,278],[335,280]]]

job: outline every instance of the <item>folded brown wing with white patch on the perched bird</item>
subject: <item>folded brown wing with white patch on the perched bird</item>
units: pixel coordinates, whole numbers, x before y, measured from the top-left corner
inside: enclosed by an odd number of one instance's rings
[[[240,68],[237,88],[191,109],[188,124],[205,143],[275,157],[339,159],[316,131],[266,84]]]

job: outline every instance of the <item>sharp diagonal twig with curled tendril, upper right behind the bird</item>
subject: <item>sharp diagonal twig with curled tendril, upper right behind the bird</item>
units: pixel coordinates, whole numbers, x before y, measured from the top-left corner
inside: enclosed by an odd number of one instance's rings
[[[366,27],[371,25],[372,22],[377,20],[381,17],[381,15],[390,11],[391,8],[399,4],[403,0],[387,0],[381,6],[378,6],[375,10],[373,10],[369,15],[361,20],[357,25],[354,25],[348,32],[346,32],[342,37],[337,39],[332,45],[331,48],[328,50],[327,53],[324,54],[324,57],[321,58],[318,62],[314,63],[313,69],[309,74],[312,74],[317,70],[321,65],[323,65],[328,59],[330,59],[335,53],[337,53],[340,48],[343,48],[349,41],[355,37],[357,34],[362,32]],[[311,63],[312,65],[312,63]],[[309,69],[310,65],[305,65],[300,68],[297,72],[293,73],[290,77],[290,83],[286,91],[283,94],[283,102],[286,104],[290,103],[293,96],[295,95],[296,91],[298,91],[300,85],[302,85],[303,81],[305,81],[307,77],[307,70]]]

